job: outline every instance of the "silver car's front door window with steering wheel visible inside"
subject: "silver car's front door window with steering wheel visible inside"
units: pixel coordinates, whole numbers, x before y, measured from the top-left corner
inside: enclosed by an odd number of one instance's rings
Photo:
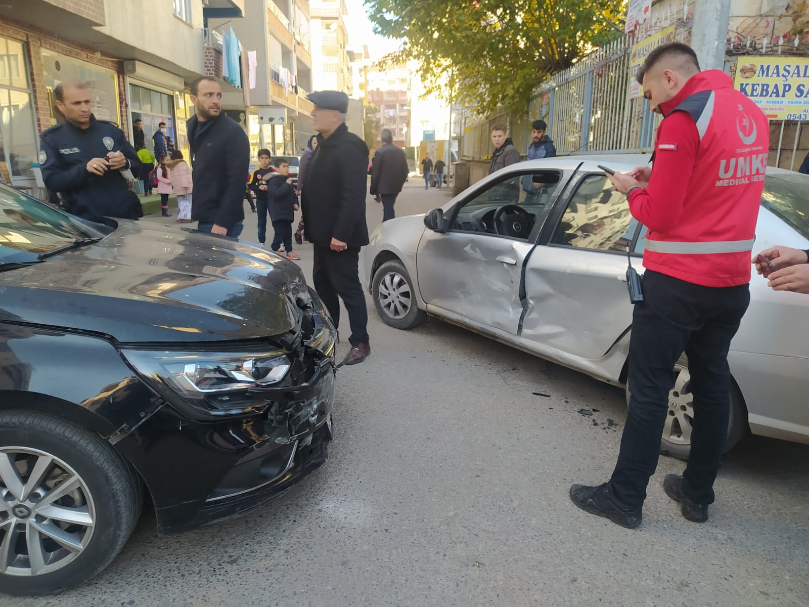
[[[464,202],[454,229],[526,240],[560,179],[558,171],[503,177]]]

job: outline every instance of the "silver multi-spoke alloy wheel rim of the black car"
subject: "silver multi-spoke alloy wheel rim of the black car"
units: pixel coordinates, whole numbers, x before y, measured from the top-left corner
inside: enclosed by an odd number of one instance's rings
[[[92,495],[51,453],[0,448],[0,573],[34,576],[74,561],[95,528]]]

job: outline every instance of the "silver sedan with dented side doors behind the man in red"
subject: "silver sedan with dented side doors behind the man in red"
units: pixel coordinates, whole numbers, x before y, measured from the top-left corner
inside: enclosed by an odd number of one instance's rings
[[[481,180],[440,209],[382,223],[365,248],[379,316],[412,329],[437,316],[627,389],[632,306],[627,247],[642,271],[646,229],[598,165],[626,172],[648,156],[532,160]],[[769,169],[756,250],[809,248],[809,176]],[[809,443],[809,295],[770,290],[752,302],[728,360],[726,448],[745,432]],[[661,448],[687,458],[693,397],[676,364]]]

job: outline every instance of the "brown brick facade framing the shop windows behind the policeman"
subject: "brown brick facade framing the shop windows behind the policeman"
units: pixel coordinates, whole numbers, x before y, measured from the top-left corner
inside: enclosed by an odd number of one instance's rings
[[[74,3],[95,4],[95,2],[81,2],[79,0],[75,0]],[[116,74],[118,74],[118,100],[120,102],[121,129],[129,134],[129,110],[125,96],[124,63],[121,60],[105,53],[98,53],[89,46],[77,44],[61,36],[55,36],[50,32],[45,32],[27,23],[20,23],[3,17],[0,17],[0,32],[2,32],[2,36],[21,40],[28,45],[28,65],[31,67],[30,75],[34,92],[34,106],[36,108],[36,120],[40,134],[44,129],[49,129],[53,126],[51,124],[48,89],[45,86],[42,49],[48,49],[55,53],[66,55],[66,57],[73,57],[83,62],[115,71]]]

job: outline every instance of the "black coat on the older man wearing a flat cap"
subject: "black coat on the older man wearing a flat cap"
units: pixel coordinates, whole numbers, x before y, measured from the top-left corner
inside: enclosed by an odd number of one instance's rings
[[[332,238],[363,247],[368,244],[368,146],[345,124],[328,138],[318,135],[317,142],[302,189],[307,238],[322,247],[330,246]]]

